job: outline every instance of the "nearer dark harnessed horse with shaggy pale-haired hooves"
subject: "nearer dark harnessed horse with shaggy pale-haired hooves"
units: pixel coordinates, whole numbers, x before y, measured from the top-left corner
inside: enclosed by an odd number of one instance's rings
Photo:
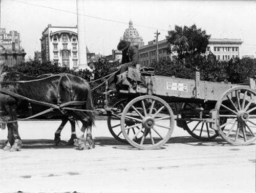
[[[20,81],[19,76],[22,75],[17,73],[16,80],[12,77],[12,83],[4,75],[1,76],[0,80],[2,82],[0,89],[0,116],[3,121],[9,121],[7,123],[8,142],[4,147],[5,150],[18,151],[22,147],[17,123],[17,113],[20,110],[28,109],[28,106],[31,106],[33,112],[36,114],[49,109],[47,105],[27,101],[19,96],[48,104],[70,104],[71,106],[66,106],[68,108],[65,110],[62,108],[53,108],[53,111],[49,114],[63,116],[64,120],[67,121],[69,117],[72,117],[74,120],[80,120],[82,122],[82,135],[78,136],[79,149],[95,147],[91,135],[92,124],[94,123],[94,114],[92,112],[94,108],[90,85],[86,80],[71,74],[59,74],[15,83],[15,81]],[[18,94],[19,96],[14,96],[12,93]],[[86,129],[87,136],[84,139]]]

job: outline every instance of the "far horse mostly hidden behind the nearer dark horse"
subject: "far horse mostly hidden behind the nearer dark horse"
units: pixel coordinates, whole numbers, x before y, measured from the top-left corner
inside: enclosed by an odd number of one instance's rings
[[[45,77],[49,77],[49,76],[54,76],[54,75],[53,74],[43,74],[40,76],[29,76],[29,75],[25,75],[20,72],[10,71],[10,72],[5,72],[1,75],[1,82],[5,83],[5,84],[8,84],[8,82],[12,82],[12,84],[13,84],[14,82],[17,82],[17,81],[37,80],[37,79],[45,78]],[[57,128],[55,135],[54,135],[55,145],[58,145],[60,143],[60,141],[61,141],[60,133],[68,121],[71,124],[71,137],[70,137],[67,145],[73,145],[74,142],[77,140],[76,131],[75,131],[75,120],[73,119],[73,117],[62,116],[61,124]],[[2,127],[5,128],[4,123],[3,123]]]

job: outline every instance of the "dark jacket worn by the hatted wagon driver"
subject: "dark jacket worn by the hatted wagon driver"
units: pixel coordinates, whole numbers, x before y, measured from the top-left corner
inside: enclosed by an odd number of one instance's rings
[[[129,46],[127,49],[122,51],[122,64],[125,63],[127,66],[136,67],[139,61],[139,51],[134,46]]]

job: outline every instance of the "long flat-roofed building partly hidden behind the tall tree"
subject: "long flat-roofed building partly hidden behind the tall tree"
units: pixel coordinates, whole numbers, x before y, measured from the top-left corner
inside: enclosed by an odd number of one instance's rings
[[[243,41],[241,39],[209,39],[206,53],[212,52],[218,60],[229,60],[234,57],[240,57],[240,47]],[[158,41],[159,59],[172,58],[167,53],[168,42],[166,39]],[[149,66],[157,60],[156,41],[149,41],[148,45],[139,48],[139,63],[143,66]]]

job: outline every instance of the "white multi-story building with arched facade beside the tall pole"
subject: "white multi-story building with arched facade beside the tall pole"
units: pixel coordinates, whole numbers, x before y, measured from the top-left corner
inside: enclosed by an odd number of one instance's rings
[[[78,68],[77,26],[60,27],[49,24],[41,37],[42,62],[58,62],[62,67]]]

